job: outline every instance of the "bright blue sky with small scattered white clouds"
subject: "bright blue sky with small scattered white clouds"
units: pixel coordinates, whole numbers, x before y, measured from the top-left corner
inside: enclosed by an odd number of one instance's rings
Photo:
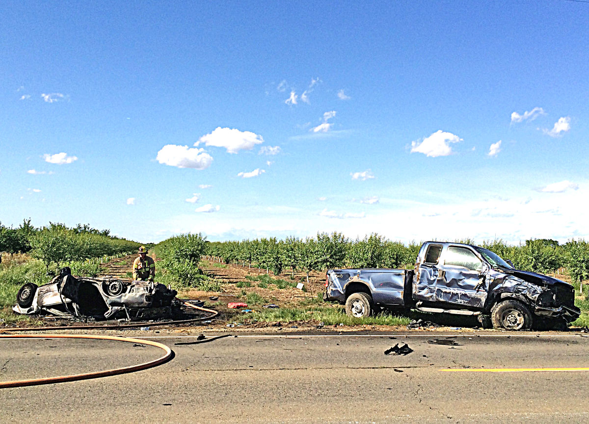
[[[589,3],[0,11],[4,225],[589,237]]]

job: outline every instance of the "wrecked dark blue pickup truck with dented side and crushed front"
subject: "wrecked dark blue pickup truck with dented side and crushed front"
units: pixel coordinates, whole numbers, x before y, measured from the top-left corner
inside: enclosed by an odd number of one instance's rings
[[[325,300],[346,305],[353,317],[380,307],[477,316],[506,330],[543,322],[558,327],[581,313],[571,284],[516,270],[490,250],[426,241],[414,270],[327,270]],[[488,325],[488,324],[487,324]]]

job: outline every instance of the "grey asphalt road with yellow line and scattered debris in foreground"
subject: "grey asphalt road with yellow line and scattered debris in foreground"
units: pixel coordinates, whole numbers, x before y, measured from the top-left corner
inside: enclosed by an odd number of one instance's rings
[[[252,334],[183,345],[175,343],[196,339],[150,337],[170,346],[174,359],[126,375],[0,389],[0,422],[589,422],[589,372],[480,371],[589,367],[589,338],[507,336]],[[434,339],[457,345],[428,343]],[[384,354],[398,342],[413,352]],[[133,365],[162,353],[57,339],[0,340],[0,352],[2,381]]]

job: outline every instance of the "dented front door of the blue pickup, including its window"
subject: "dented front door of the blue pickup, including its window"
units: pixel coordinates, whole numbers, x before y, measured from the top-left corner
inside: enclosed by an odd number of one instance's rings
[[[488,264],[468,247],[446,247],[438,264],[436,300],[482,308],[487,299],[488,270]]]

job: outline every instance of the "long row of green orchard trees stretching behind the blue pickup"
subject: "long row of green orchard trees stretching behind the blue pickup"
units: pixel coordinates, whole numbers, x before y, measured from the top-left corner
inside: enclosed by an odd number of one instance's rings
[[[456,240],[474,244],[472,240]],[[509,259],[517,269],[552,273],[566,268],[575,281],[589,279],[589,244],[584,240],[570,240],[560,245],[550,239],[526,240],[525,244],[509,245],[502,240],[481,244],[503,259]],[[341,233],[317,233],[305,239],[287,237],[261,238],[242,241],[206,242],[204,253],[220,257],[226,263],[255,264],[274,274],[284,269],[320,271],[335,268],[412,268],[421,243],[407,246],[378,234],[350,240]]]

